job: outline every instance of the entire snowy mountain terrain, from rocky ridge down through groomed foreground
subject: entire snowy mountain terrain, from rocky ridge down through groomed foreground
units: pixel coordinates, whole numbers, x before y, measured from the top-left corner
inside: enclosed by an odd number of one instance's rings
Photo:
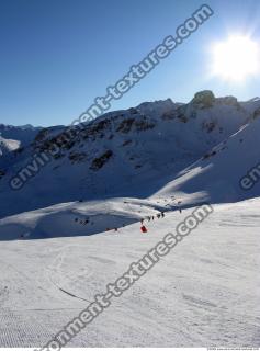
[[[0,346],[44,347],[210,202],[211,217],[68,347],[258,347],[260,167],[250,189],[240,181],[260,161],[260,100],[204,91],[108,113],[74,140],[65,131],[0,140]]]

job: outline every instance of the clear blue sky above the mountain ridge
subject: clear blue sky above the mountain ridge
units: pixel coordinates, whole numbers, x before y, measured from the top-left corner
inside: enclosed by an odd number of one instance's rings
[[[212,43],[250,33],[260,41],[259,0],[210,0],[214,15],[112,110],[199,90],[240,100],[260,95],[260,77],[244,84],[210,78]],[[163,37],[197,0],[0,0],[0,123],[69,124]]]

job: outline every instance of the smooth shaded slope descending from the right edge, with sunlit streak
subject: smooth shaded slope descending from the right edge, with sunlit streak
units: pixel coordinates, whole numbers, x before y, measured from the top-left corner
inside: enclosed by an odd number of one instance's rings
[[[183,203],[194,199],[214,203],[236,202],[260,196],[260,177],[251,189],[245,190],[240,180],[260,165],[260,117],[257,117],[227,140],[208,151],[202,159],[181,171],[157,195],[178,194]],[[260,174],[260,168],[259,168]]]

